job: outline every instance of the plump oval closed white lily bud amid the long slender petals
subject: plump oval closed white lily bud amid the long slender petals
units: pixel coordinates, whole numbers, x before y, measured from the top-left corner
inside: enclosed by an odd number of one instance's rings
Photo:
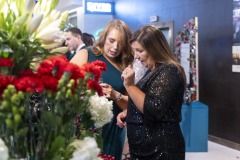
[[[43,13],[38,12],[33,15],[28,27],[29,27],[29,32],[32,34],[37,30],[39,27],[40,23],[42,22],[43,19]]]

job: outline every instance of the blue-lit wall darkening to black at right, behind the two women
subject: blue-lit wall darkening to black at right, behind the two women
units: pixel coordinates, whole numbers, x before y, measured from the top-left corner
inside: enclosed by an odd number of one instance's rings
[[[209,134],[240,144],[240,73],[232,72],[232,0],[115,0],[115,18],[134,31],[174,21],[174,39],[189,19],[199,22],[199,99],[209,107]]]

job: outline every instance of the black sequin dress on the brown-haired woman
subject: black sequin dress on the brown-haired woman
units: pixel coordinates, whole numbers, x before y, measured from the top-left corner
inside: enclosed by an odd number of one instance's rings
[[[144,114],[129,98],[126,122],[131,160],[184,160],[179,125],[185,88],[182,75],[173,65],[158,64],[137,87],[145,93]]]

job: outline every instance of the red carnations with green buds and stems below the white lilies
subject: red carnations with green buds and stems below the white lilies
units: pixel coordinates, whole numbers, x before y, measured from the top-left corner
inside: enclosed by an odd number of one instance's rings
[[[10,74],[14,66],[10,59],[0,62],[8,73],[0,73],[0,138],[10,157],[70,159],[75,151],[70,144],[85,137],[101,145],[101,129],[87,129],[94,124],[87,107],[91,96],[102,95],[98,82],[106,70],[104,62],[79,67],[65,56],[52,56],[36,71],[22,70],[17,75]]]

